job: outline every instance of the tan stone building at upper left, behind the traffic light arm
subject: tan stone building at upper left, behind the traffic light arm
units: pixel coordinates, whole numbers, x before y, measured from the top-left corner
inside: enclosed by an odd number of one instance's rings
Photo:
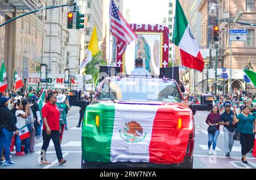
[[[45,6],[46,2],[0,1],[0,23]],[[30,73],[40,72],[42,63],[45,11],[23,16],[0,27],[0,58],[4,60],[7,88],[13,89],[16,71],[27,87]]]

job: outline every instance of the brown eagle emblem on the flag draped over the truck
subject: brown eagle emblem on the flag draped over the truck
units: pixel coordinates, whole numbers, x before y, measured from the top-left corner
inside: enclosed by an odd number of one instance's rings
[[[125,123],[125,126],[119,130],[119,136],[127,143],[141,142],[146,135],[147,132],[143,132],[142,126],[136,121]]]

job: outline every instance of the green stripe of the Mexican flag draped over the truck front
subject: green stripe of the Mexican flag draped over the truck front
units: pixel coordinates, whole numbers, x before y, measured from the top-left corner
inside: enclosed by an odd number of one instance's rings
[[[100,126],[96,127],[96,115]],[[110,162],[115,106],[95,104],[87,106],[82,125],[82,158],[84,161]]]

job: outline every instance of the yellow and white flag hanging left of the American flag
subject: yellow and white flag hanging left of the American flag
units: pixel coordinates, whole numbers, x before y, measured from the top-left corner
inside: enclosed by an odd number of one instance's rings
[[[88,49],[86,49],[85,54],[87,55],[86,58],[82,59],[81,65],[79,67],[80,71],[84,66],[86,66],[90,61],[92,61],[93,55],[96,55],[98,53],[98,36],[96,27],[93,29],[92,37],[90,37],[90,42]]]

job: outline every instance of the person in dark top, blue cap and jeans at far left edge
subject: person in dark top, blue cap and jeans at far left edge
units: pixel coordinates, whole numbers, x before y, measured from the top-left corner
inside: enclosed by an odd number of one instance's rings
[[[14,165],[14,162],[10,160],[10,145],[13,138],[13,132],[15,135],[19,134],[18,128],[15,126],[14,117],[11,111],[7,108],[9,98],[2,96],[0,98],[0,152],[2,153],[5,148],[5,165]],[[0,165],[3,165],[0,161]]]

